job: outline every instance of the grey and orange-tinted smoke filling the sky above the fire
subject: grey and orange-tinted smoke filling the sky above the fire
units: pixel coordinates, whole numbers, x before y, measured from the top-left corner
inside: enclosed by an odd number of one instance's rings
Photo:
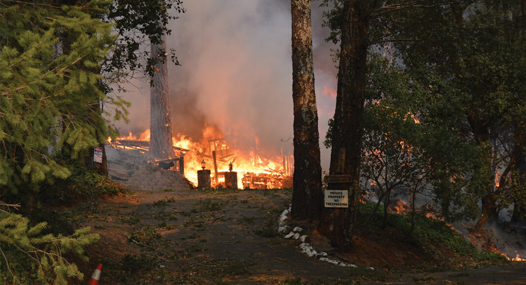
[[[319,1],[311,5],[321,144],[335,109],[337,70]],[[169,23],[167,36],[180,62],[168,65],[173,134],[199,140],[211,125],[257,136],[267,155],[291,150],[292,140],[282,142],[293,136],[290,1],[186,0],[183,6],[186,13]],[[122,134],[149,128],[148,82],[133,85],[123,94],[132,105],[129,124],[118,124]],[[320,149],[327,170],[329,153]]]

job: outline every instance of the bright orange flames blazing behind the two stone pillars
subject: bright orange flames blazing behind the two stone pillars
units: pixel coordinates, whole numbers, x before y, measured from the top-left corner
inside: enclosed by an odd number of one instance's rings
[[[226,140],[222,140],[225,136],[212,126],[206,126],[203,129],[203,138],[200,141],[194,141],[185,134],[177,134],[172,138],[173,145],[179,149],[183,149],[184,155],[184,172],[185,177],[194,185],[197,186],[197,171],[201,170],[201,161],[205,160],[206,169],[211,170],[212,186],[224,182],[224,177],[221,173],[229,171],[229,164],[232,163],[232,171],[237,172],[238,188],[244,188],[243,177],[245,175],[261,176],[262,179],[255,179],[254,184],[264,183],[266,185],[256,185],[258,187],[272,187],[276,186],[274,181],[281,181],[285,175],[290,175],[290,169],[284,169],[284,156],[281,157],[264,157],[259,154],[257,149],[257,137],[252,137],[251,148],[240,149],[230,148]],[[241,138],[241,137],[239,137]],[[132,141],[149,141],[150,130],[138,135],[131,132],[126,136],[121,136],[116,140],[132,140]],[[236,137],[238,139],[238,137]],[[110,142],[110,140],[108,140]],[[216,164],[214,165],[213,151],[216,151]],[[287,163],[287,164],[290,164]],[[217,167],[217,176],[216,176]],[[264,181],[264,182],[261,182]],[[216,183],[217,182],[217,183]],[[245,181],[247,183],[247,181]],[[247,185],[248,186],[248,185]]]

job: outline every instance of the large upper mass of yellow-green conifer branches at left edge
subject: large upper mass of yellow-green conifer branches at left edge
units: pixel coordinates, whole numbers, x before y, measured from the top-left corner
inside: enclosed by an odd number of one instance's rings
[[[66,160],[83,159],[112,131],[98,107],[107,97],[97,70],[114,37],[110,24],[89,14],[105,5],[0,7],[6,19],[0,26],[2,196],[27,200],[40,185],[65,179]]]

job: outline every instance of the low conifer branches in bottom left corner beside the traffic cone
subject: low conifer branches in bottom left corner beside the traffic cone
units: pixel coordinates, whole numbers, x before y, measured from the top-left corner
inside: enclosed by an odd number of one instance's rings
[[[29,226],[22,215],[0,212],[0,280],[13,284],[67,284],[70,278],[83,280],[68,252],[87,260],[84,248],[98,240],[89,227],[70,236],[44,234],[46,223]]]

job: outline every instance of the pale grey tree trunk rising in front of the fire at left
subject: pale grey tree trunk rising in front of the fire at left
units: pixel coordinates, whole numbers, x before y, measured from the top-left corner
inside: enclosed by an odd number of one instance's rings
[[[151,44],[151,57],[156,59],[155,74],[150,87],[150,150],[154,159],[174,157],[171,140],[170,97],[166,62],[166,35],[159,45]]]

